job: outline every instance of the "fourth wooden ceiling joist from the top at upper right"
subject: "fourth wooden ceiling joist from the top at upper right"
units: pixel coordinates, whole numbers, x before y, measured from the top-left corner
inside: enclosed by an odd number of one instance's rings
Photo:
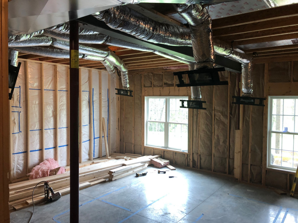
[[[269,36],[269,37],[234,41],[234,46],[254,44],[254,43],[265,43],[265,42],[271,42],[271,41],[280,41],[280,40],[296,39],[296,38],[298,38],[298,32],[291,33],[291,34],[284,34],[284,35],[275,35],[275,36]]]

